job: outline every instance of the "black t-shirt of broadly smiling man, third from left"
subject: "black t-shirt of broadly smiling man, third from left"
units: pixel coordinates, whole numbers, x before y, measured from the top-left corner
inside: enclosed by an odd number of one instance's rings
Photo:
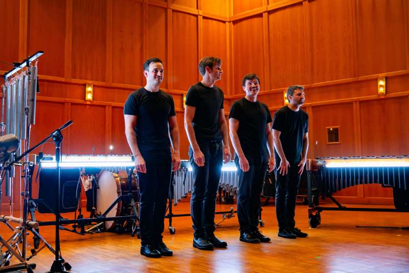
[[[239,121],[237,135],[244,156],[267,157],[265,127],[271,122],[271,115],[266,104],[245,98],[236,100],[230,108],[229,118]]]

